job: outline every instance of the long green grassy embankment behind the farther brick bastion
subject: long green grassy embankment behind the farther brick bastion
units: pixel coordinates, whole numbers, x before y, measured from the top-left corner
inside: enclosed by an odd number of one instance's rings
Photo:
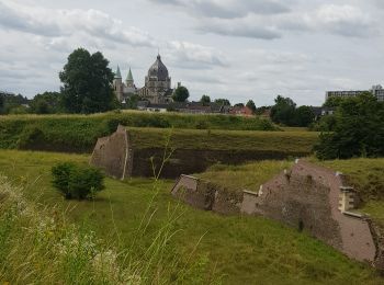
[[[267,119],[227,115],[187,115],[146,112],[95,115],[9,115],[0,116],[0,148],[29,148],[90,152],[99,137],[129,127],[275,130]]]

